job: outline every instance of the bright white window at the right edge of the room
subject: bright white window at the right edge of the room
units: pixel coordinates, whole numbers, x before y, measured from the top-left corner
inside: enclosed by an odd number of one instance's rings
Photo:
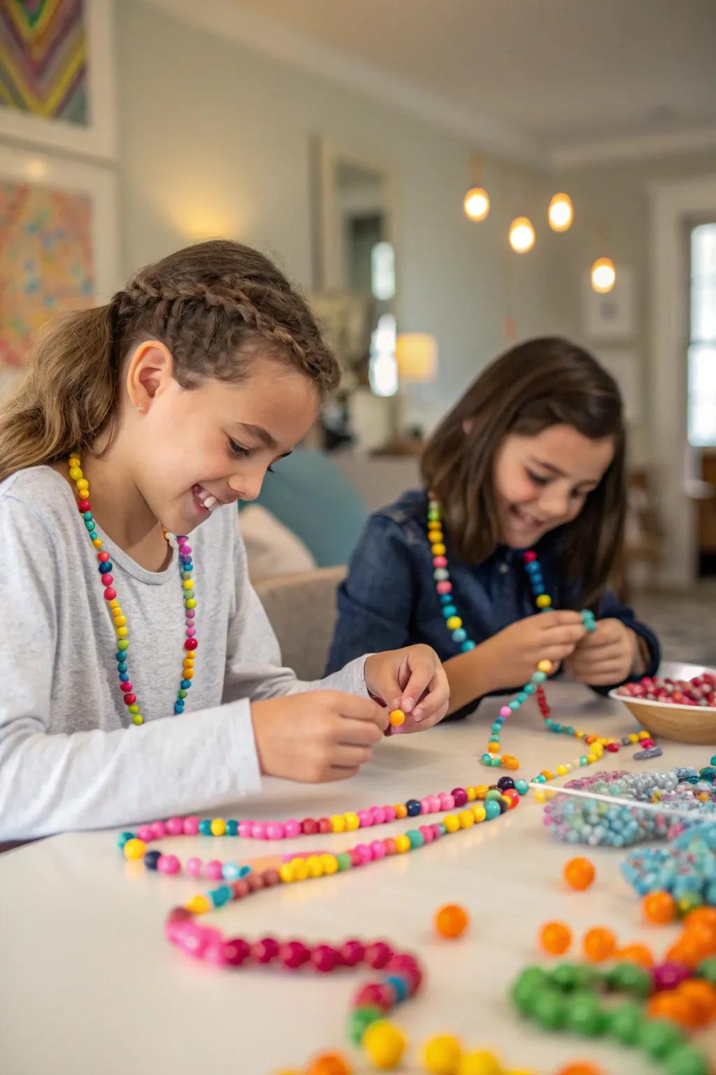
[[[716,223],[691,231],[688,434],[695,447],[716,447]]]

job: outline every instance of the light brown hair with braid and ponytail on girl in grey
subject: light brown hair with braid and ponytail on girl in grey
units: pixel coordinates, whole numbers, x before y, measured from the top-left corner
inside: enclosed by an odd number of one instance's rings
[[[321,395],[339,379],[310,310],[268,258],[198,243],[140,270],[107,305],[50,324],[0,413],[0,481],[91,450],[116,413],[122,361],[147,339],[169,347],[185,388],[240,381],[259,350],[303,370]]]

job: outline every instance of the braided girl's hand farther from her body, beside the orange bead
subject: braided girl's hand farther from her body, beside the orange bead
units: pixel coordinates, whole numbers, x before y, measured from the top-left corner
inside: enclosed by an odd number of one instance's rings
[[[389,728],[389,734],[424,731],[448,712],[448,676],[429,646],[374,654],[365,662],[365,683],[389,710],[403,710],[406,715],[406,722],[400,728]]]

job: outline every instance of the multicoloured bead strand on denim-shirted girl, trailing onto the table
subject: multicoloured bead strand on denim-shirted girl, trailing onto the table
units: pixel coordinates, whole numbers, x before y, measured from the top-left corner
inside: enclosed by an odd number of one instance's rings
[[[435,578],[436,590],[440,601],[440,612],[445,621],[445,627],[450,631],[453,642],[459,643],[461,650],[463,653],[470,653],[474,649],[476,643],[472,639],[468,637],[463,618],[459,616],[457,605],[455,604],[453,585],[450,579],[450,569],[447,558],[448,547],[445,545],[444,532],[442,528],[442,506],[440,501],[433,497],[430,497],[427,507],[427,540],[430,543],[430,551],[433,554],[433,577]],[[535,594],[535,604],[537,605],[537,608],[540,612],[550,612],[552,607],[552,598],[545,591],[542,568],[537,559],[537,554],[532,549],[528,549],[523,554],[523,560],[532,588],[532,593]],[[581,616],[586,630],[589,632],[594,631],[597,626],[594,613],[589,608],[583,608]],[[546,701],[546,696],[544,693],[544,688],[542,686],[551,671],[551,661],[539,661],[529,683],[526,683],[522,690],[518,691],[511,701],[500,707],[499,715],[495,718],[491,728],[491,737],[487,743],[487,750],[482,755],[481,760],[483,765],[496,769],[501,766],[510,770],[520,768],[520,762],[513,755],[500,754],[500,733],[502,731],[502,725],[508,717],[510,717],[513,713],[516,713],[516,711],[524,705],[524,703],[532,694],[537,698],[540,713],[544,720],[544,727],[547,731],[557,735],[571,735],[574,739],[584,740],[586,745],[589,747],[589,750],[586,754],[580,755],[579,758],[574,758],[572,761],[560,763],[554,771],[543,769],[541,773],[534,777],[534,782],[537,782],[538,784],[546,784],[547,780],[554,779],[555,776],[566,776],[567,773],[570,773],[573,769],[579,769],[583,765],[590,765],[594,764],[594,762],[599,761],[604,752],[604,749],[612,754],[616,754],[619,747],[625,745],[624,740],[590,735],[588,732],[582,731],[579,728],[573,728],[571,725],[560,725],[558,721],[553,720],[551,717],[551,710]],[[647,732],[644,731],[634,733],[626,739],[628,739],[629,743],[637,743],[639,740],[646,740],[652,746],[654,745],[653,742],[648,740]]]

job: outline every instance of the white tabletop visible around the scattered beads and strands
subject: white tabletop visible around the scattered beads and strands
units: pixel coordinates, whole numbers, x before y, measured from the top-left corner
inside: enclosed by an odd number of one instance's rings
[[[557,719],[590,731],[616,735],[634,728],[618,703],[581,687],[552,684],[550,699]],[[319,817],[489,783],[479,756],[493,708],[385,742],[348,784],[267,780],[265,801],[245,802],[233,816]],[[574,757],[574,746],[544,733],[530,707],[511,718],[503,733],[503,747],[522,760],[517,775],[525,777]],[[623,749],[613,764],[605,756],[599,768],[700,765],[711,752],[666,741],[661,746],[663,758],[655,761],[634,762],[633,751]],[[375,835],[409,827],[397,821]],[[200,1070],[268,1075],[278,1067],[303,1067],[326,1048],[350,1051],[356,1072],[369,1070],[348,1046],[345,1023],[353,993],[371,972],[319,976],[221,971],[193,962],[165,942],[162,924],[170,906],[208,885],[148,874],[140,863],[125,862],[115,835],[61,835],[0,856],[2,1075],[194,1075]],[[310,849],[341,850],[356,842],[355,834],[346,833],[280,845],[181,837],[162,846],[182,859],[199,854],[242,861],[239,847],[248,858],[273,849],[308,849],[309,843]],[[561,868],[583,852],[595,862],[597,879],[587,892],[573,892],[561,882]],[[535,938],[547,919],[569,922],[578,938],[589,926],[607,924],[622,943],[643,941],[658,954],[671,943],[676,927],[642,924],[635,894],[618,873],[624,855],[557,843],[530,794],[501,818],[419,851],[280,886],[203,920],[249,937],[385,937],[417,952],[427,972],[424,987],[393,1015],[410,1042],[403,1072],[421,1070],[414,1060],[427,1035],[453,1032],[466,1045],[497,1049],[510,1067],[541,1075],[579,1058],[599,1062],[609,1075],[647,1075],[658,1065],[642,1054],[540,1031],[521,1021],[506,998],[517,970],[543,959]],[[462,940],[447,942],[434,934],[432,918],[440,904],[453,901],[469,909],[471,929]],[[572,955],[578,952],[575,944]],[[716,1059],[716,1032],[698,1041]]]

